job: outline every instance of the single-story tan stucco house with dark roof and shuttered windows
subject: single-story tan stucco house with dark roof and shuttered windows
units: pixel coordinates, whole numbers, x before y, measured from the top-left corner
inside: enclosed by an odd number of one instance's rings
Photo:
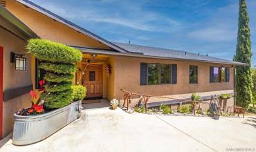
[[[1,7],[0,12],[0,46],[3,46],[0,49],[0,57],[3,58],[3,64],[0,63],[0,88],[3,87],[3,93],[0,93],[0,111],[3,115],[0,118],[3,123],[1,137],[12,131],[12,113],[30,103],[29,89],[32,87],[36,90],[39,79],[44,77],[44,71],[37,68],[39,61],[24,53],[26,40],[30,38],[50,39],[82,51],[83,59],[77,64],[73,84],[86,86],[87,99],[116,98],[122,102],[120,89],[176,98],[190,97],[190,93],[194,92],[201,93],[205,99],[221,93],[234,94],[235,66],[246,66],[236,61],[183,50],[107,41],[31,1],[0,2],[8,10],[3,12]],[[5,12],[11,12],[12,18],[6,17]],[[2,26],[3,17],[10,20],[10,26],[15,26],[15,31],[19,30],[26,37],[22,38],[12,29]],[[26,57],[25,70],[12,67],[11,51]],[[26,89],[21,91],[20,88]],[[5,99],[9,90],[16,95],[13,96],[15,98]],[[134,97],[131,106],[136,104],[136,99],[138,97]],[[157,103],[157,100],[149,102]],[[228,101],[231,105],[235,103],[233,98]]]

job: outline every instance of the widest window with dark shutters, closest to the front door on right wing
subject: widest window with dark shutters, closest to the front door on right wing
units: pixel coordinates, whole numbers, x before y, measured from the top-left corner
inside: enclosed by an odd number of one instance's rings
[[[140,85],[176,84],[176,64],[140,64]]]

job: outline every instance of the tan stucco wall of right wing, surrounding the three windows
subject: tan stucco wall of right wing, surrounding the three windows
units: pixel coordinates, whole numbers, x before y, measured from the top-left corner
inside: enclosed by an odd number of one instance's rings
[[[177,84],[140,86],[140,62],[177,64]],[[122,99],[120,89],[147,95],[175,95],[183,93],[221,91],[233,89],[233,68],[225,64],[192,61],[114,57],[114,97]],[[198,66],[198,84],[189,84],[189,66]],[[210,66],[230,67],[230,82],[210,83]]]

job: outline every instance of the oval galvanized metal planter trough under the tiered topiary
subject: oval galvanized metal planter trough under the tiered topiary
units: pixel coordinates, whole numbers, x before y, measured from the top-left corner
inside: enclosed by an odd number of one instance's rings
[[[12,144],[26,145],[44,140],[81,116],[82,101],[44,113],[21,116],[15,113]]]

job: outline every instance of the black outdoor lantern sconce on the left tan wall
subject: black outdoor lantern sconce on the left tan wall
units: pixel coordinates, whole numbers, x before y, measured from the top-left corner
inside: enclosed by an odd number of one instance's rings
[[[24,55],[10,53],[10,63],[15,64],[15,70],[26,70],[26,58]]]

